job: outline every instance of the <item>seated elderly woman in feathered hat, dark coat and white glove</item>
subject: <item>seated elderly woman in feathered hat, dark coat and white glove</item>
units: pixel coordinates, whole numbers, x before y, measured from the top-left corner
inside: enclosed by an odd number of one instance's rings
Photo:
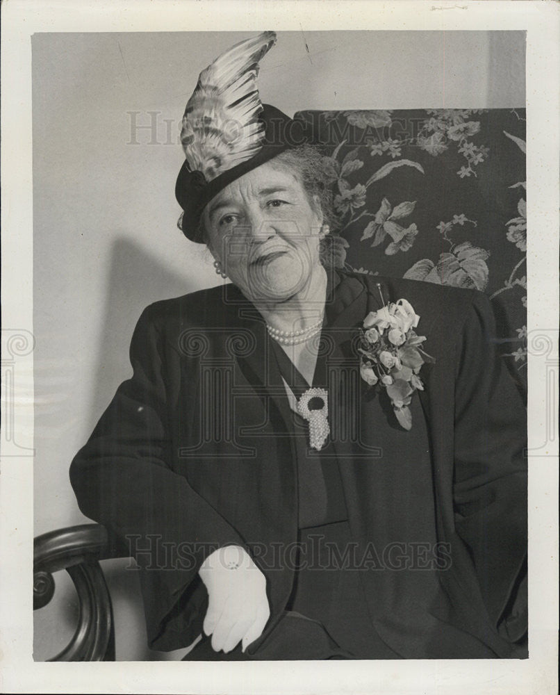
[[[489,302],[322,263],[321,156],[256,90],[274,40],[187,104],[181,229],[231,284],[142,313],[79,505],[140,566],[153,648],[522,657],[525,409]]]

